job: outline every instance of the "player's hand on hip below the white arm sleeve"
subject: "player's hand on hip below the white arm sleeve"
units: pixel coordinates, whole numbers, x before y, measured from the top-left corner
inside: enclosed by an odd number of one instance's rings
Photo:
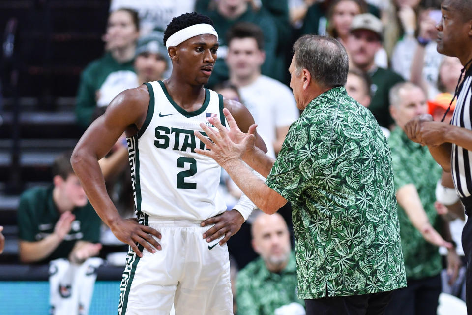
[[[244,223],[244,218],[239,211],[236,209],[225,211],[220,215],[202,221],[202,226],[215,224],[203,233],[203,238],[207,239],[207,242],[210,243],[225,235],[225,237],[219,241],[221,246],[225,244],[231,236],[235,235],[236,232],[239,231],[242,223]]]

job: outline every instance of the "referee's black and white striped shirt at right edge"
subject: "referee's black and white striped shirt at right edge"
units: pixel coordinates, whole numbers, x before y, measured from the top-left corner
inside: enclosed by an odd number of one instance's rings
[[[472,130],[472,67],[465,74],[459,88],[456,108],[451,125]],[[454,186],[459,197],[472,195],[472,151],[452,144],[451,170]]]

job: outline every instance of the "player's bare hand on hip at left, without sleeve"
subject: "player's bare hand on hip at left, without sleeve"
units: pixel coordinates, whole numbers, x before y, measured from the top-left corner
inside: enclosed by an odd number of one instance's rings
[[[139,250],[137,244],[152,253],[156,252],[155,249],[161,250],[161,245],[153,237],[161,239],[161,233],[152,227],[139,224],[136,219],[120,220],[110,226],[110,229],[118,240],[131,246],[139,257],[143,257],[143,253]]]

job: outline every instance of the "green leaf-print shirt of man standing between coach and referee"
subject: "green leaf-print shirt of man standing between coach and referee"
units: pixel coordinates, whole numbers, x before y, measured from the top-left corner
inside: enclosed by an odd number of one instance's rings
[[[408,139],[400,127],[396,127],[388,138],[392,150],[392,166],[395,190],[413,184],[418,191],[421,204],[431,225],[439,231],[441,218],[434,202],[436,182],[442,169],[429,153],[428,148]],[[398,206],[400,237],[402,240],[405,271],[408,279],[422,279],[441,272],[441,256],[438,247],[427,242],[413,226],[405,210]]]

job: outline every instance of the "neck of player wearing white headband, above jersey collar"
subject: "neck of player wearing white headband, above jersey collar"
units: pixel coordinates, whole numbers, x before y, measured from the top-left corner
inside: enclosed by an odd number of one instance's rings
[[[167,92],[172,99],[184,110],[195,111],[199,104],[205,100],[205,89],[202,85],[191,85],[181,80],[173,73],[171,77],[164,81]]]

